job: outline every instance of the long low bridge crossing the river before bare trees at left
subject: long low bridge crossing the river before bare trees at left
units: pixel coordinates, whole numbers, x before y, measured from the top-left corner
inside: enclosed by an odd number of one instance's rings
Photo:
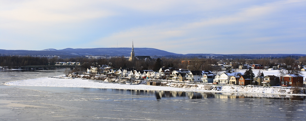
[[[26,69],[26,70],[50,70],[51,68],[70,68],[73,69],[75,67],[80,67],[80,65],[41,65],[41,66],[21,66],[21,69]]]

